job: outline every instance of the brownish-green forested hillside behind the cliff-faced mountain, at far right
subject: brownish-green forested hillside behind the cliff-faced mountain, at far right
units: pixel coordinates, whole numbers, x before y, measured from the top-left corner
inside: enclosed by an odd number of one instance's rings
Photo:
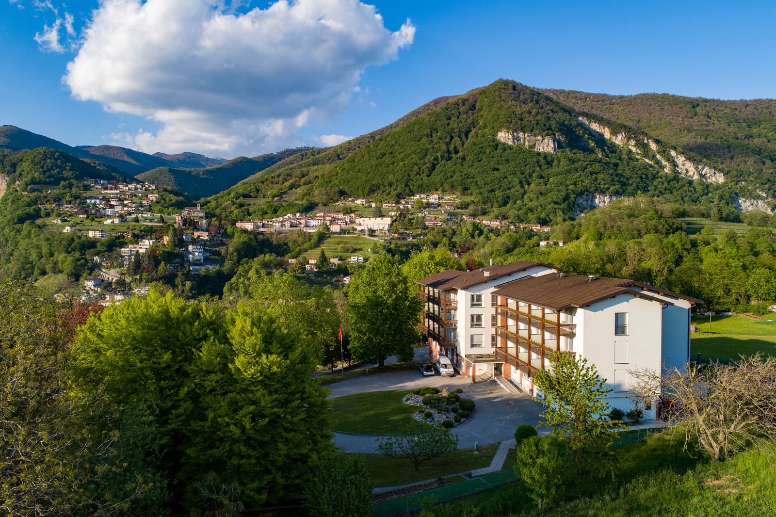
[[[643,93],[605,95],[543,90],[580,112],[594,113],[681,147],[730,179],[776,196],[776,100],[720,100]]]

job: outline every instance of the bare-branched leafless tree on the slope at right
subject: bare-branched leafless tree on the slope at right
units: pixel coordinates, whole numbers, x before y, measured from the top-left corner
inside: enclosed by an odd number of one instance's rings
[[[662,377],[653,370],[630,374],[642,396],[660,394],[664,417],[684,431],[684,448],[695,446],[714,462],[776,439],[774,357],[674,368]]]

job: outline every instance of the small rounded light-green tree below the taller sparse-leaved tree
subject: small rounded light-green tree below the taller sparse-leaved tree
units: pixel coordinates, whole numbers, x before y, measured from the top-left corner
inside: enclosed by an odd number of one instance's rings
[[[518,446],[514,458],[514,473],[517,474],[531,498],[542,509],[542,505],[558,498],[566,472],[566,444],[555,436],[531,436]]]

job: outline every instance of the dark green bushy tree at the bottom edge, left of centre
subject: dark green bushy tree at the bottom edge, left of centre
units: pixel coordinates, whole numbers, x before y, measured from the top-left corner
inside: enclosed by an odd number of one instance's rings
[[[313,469],[307,484],[310,517],[369,517],[372,484],[362,456],[329,453]]]

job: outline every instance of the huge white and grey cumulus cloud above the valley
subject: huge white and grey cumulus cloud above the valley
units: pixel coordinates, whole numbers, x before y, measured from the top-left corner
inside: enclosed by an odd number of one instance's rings
[[[77,99],[161,124],[115,135],[129,147],[258,154],[303,143],[300,127],[343,106],[366,67],[414,40],[409,20],[391,32],[357,0],[236,5],[103,0],[63,81]]]

